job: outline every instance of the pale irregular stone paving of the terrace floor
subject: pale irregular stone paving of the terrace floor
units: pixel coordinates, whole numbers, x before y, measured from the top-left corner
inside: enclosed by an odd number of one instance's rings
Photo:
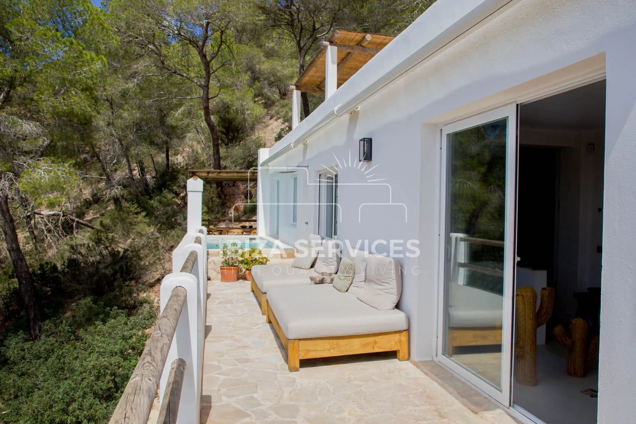
[[[513,423],[475,413],[394,352],[301,360],[286,354],[249,283],[208,285],[202,423]]]

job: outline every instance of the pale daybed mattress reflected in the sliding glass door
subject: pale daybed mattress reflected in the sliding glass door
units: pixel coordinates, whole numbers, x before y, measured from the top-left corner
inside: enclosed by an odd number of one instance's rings
[[[449,327],[501,327],[503,296],[456,283],[450,285],[449,294]]]

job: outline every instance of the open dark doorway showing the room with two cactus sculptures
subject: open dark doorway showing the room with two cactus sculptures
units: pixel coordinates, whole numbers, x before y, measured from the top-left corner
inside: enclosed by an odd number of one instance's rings
[[[519,121],[513,405],[596,423],[605,81],[522,104]]]

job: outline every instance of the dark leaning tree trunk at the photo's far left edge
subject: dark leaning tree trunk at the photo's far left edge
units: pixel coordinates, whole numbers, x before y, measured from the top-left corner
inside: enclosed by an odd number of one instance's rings
[[[22,294],[22,300],[24,301],[27,315],[29,315],[31,338],[38,340],[40,323],[38,307],[36,306],[33,292],[33,278],[31,277],[27,260],[24,259],[24,254],[22,253],[22,249],[20,249],[18,233],[15,231],[15,223],[13,222],[13,216],[9,209],[9,198],[7,195],[0,195],[0,224],[2,224],[4,241],[6,242],[6,248],[11,257],[11,263],[13,263],[13,269],[18,278],[20,294]]]

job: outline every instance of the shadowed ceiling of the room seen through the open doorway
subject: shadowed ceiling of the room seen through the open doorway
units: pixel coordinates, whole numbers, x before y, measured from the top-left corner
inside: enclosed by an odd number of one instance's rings
[[[520,126],[562,130],[605,128],[605,81],[521,106]]]

